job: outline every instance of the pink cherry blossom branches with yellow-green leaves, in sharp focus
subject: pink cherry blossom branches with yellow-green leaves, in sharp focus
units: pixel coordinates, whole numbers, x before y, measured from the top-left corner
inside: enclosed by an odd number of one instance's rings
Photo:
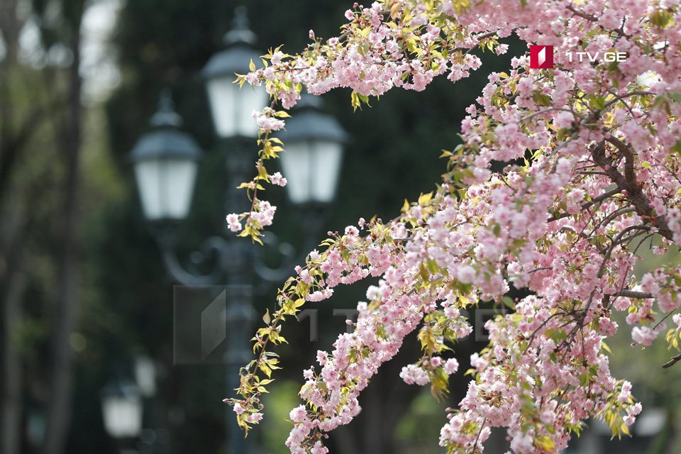
[[[629,433],[641,404],[609,370],[613,313],[627,314],[641,345],[664,331],[677,347],[681,326],[681,271],[632,275],[638,248],[681,244],[679,1],[383,0],[355,4],[345,17],[338,38],[311,31],[303,52],[274,50],[238,78],[272,97],[255,114],[258,176],[243,184],[253,207],[229,216],[241,236],[259,240],[272,222],[261,184],[285,180],[265,168],[283,149],[270,133],[288,116],[278,106],[290,109],[304,87],[349,87],[358,107],[395,87],[423,90],[437,76],[456,82],[480,67],[475,52],[502,54],[513,33],[553,45],[555,65],[531,69],[526,54],[490,74],[466,109],[463,144],[444,153],[436,192],[392,221],[360,219],[309,254],[253,338],[256,358],[242,369],[238,398],[226,401],[240,425],[262,419],[260,394],[279,368],[267,347],[284,341],[281,322],[339,284],[374,276],[380,284],[358,303],[355,331],[304,371],[292,453],[328,452],[325,433],[358,414],[362,389],[416,329],[422,356],[401,377],[441,397],[458,372],[457,360],[441,355],[470,333],[463,311],[489,300],[513,310],[486,325],[489,346],[472,356],[467,395],[441,430],[448,452],[482,452],[492,427],[507,428],[514,453],[562,450],[589,417]],[[494,172],[493,162],[506,167]],[[511,286],[529,296],[511,301]]]

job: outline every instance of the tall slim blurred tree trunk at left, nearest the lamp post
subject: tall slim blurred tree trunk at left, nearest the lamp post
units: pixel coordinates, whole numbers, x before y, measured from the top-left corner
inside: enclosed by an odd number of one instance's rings
[[[65,2],[69,4],[71,2]],[[66,175],[62,194],[62,250],[59,261],[59,295],[52,318],[52,380],[45,431],[45,454],[61,454],[65,447],[72,411],[73,355],[70,336],[74,328],[78,300],[79,241],[79,155],[82,145],[82,80],[80,67],[80,23],[82,1],[75,1],[79,11],[71,18],[69,48],[73,63],[69,70],[68,114],[63,128],[62,153],[66,162]]]

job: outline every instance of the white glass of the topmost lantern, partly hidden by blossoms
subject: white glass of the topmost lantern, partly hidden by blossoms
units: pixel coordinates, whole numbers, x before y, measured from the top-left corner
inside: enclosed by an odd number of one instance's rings
[[[239,87],[233,74],[209,79],[206,83],[211,114],[219,137],[255,137],[258,124],[251,116],[267,106],[264,87]]]

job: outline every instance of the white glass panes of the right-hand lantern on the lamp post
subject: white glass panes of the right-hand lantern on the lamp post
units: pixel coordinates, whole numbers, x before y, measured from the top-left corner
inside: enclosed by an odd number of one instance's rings
[[[323,139],[284,143],[286,152],[281,155],[282,170],[288,180],[286,187],[291,201],[294,204],[328,204],[333,201],[343,145]]]

